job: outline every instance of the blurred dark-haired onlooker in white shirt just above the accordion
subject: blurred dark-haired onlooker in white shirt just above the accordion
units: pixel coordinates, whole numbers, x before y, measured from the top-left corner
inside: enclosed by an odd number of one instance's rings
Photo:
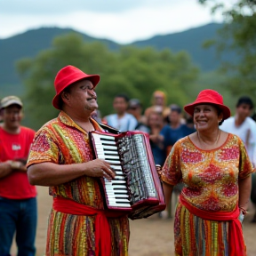
[[[116,114],[103,118],[104,123],[116,128],[119,132],[133,131],[138,124],[136,118],[127,113],[129,98],[125,94],[117,94],[113,101]]]

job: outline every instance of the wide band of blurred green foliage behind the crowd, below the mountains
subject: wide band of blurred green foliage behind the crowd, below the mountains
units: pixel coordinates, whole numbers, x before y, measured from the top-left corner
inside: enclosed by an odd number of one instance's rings
[[[51,49],[40,52],[34,59],[17,62],[26,85],[31,127],[38,129],[58,115],[58,110],[52,107],[53,81],[60,68],[67,65],[100,75],[96,91],[102,116],[113,112],[113,98],[120,92],[140,99],[144,108],[150,105],[151,95],[157,89],[167,93],[169,103],[188,103],[192,91],[188,89],[199,73],[186,52],[174,54],[169,50],[157,52],[153,48],[135,46],[110,52],[105,44],[85,44],[77,34],[59,36],[53,40]]]

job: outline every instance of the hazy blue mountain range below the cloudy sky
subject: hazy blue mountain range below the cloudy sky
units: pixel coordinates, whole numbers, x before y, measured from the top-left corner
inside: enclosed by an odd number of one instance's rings
[[[132,44],[138,47],[151,46],[157,50],[170,49],[172,52],[186,51],[191,60],[203,71],[210,72],[220,67],[221,60],[217,58],[214,47],[205,49],[203,44],[207,40],[217,39],[217,31],[223,24],[210,23],[198,28],[191,28],[180,33],[154,36],[148,40],[135,41]],[[48,49],[52,45],[52,39],[70,32],[81,34],[84,42],[98,41],[108,45],[109,50],[116,50],[124,44],[117,44],[107,39],[94,38],[69,28],[38,28],[28,30],[20,35],[0,39],[0,91],[6,91],[8,87],[20,84],[19,76],[15,70],[15,62],[22,58],[33,58],[38,52]],[[224,52],[222,60],[236,60],[233,52]]]

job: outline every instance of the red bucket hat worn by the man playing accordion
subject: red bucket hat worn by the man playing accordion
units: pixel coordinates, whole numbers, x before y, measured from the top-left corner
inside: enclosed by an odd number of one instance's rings
[[[99,75],[87,75],[82,70],[74,66],[68,65],[61,68],[54,80],[56,95],[52,100],[53,107],[60,109],[60,93],[67,88],[68,85],[83,79],[92,81],[94,87],[100,82]]]

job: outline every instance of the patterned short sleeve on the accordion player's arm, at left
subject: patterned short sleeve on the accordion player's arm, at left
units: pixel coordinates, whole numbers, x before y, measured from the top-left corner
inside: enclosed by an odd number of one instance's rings
[[[44,162],[55,164],[60,162],[60,148],[57,146],[52,132],[46,127],[36,132],[35,139],[30,148],[27,167],[31,164]]]

